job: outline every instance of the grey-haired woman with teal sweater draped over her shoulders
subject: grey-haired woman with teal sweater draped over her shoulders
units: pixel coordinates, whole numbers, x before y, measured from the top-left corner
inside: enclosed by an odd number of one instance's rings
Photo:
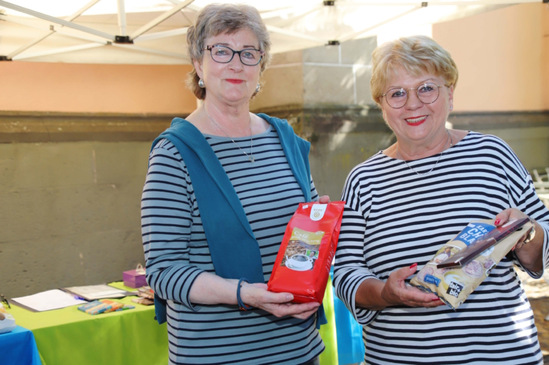
[[[170,364],[318,364],[318,303],[265,284],[299,203],[329,201],[314,188],[309,143],[250,113],[270,60],[266,26],[248,5],[208,5],[187,45],[203,103],[154,141],[141,203]]]

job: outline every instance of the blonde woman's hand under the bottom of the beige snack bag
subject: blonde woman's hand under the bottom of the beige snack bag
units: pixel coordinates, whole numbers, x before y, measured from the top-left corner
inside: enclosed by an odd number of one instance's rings
[[[434,294],[428,294],[410,286],[404,281],[417,270],[417,263],[409,268],[401,268],[390,273],[382,291],[381,297],[387,307],[393,305],[408,305],[408,307],[438,307],[443,301]]]

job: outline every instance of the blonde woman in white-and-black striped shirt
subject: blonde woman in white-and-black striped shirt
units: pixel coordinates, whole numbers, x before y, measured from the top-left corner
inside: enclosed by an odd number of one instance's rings
[[[446,128],[457,81],[431,38],[373,52],[373,99],[397,142],[347,178],[334,273],[336,294],[364,326],[368,364],[543,363],[513,266],[535,278],[549,266],[549,211],[504,141]],[[522,217],[535,229],[456,311],[408,285],[471,220]]]

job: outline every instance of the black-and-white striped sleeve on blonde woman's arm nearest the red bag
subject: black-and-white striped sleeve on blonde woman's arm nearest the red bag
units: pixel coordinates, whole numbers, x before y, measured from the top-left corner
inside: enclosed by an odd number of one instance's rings
[[[378,279],[368,268],[364,258],[364,233],[366,232],[367,214],[360,202],[360,184],[351,178],[347,179],[342,193],[342,200],[347,202],[343,211],[336,263],[334,266],[334,287],[336,295],[360,325],[368,325],[379,311],[371,311],[356,305],[356,293],[360,284],[370,278]],[[367,207],[366,207],[367,209]],[[367,210],[366,210],[367,211]]]

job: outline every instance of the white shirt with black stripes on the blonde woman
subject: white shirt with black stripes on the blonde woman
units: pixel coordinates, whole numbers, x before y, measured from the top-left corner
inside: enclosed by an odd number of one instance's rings
[[[408,164],[428,172],[439,156]],[[342,200],[347,206],[334,285],[364,326],[366,364],[543,364],[533,311],[513,268],[522,268],[516,257],[504,258],[456,311],[445,305],[381,311],[355,305],[365,279],[386,281],[413,263],[419,272],[471,220],[493,219],[510,207],[543,226],[548,267],[549,211],[504,141],[469,132],[426,176],[379,152],[351,171]],[[543,270],[529,274],[537,278]]]

